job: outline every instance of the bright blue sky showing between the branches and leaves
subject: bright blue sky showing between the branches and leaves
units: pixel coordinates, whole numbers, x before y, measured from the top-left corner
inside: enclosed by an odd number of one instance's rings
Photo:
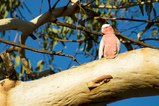
[[[61,0],[61,1],[62,2],[59,2],[57,7],[65,6],[67,4],[68,0],[65,0],[65,1]],[[31,10],[34,17],[37,17],[39,15],[41,0],[24,0],[24,2],[27,4],[29,9]],[[52,2],[52,5],[53,4],[54,3]],[[47,0],[44,0],[43,5],[42,5],[42,13],[46,12],[48,9],[49,9],[48,8],[48,2],[47,2]],[[26,9],[23,10],[22,12],[23,12],[23,15],[25,16],[25,18],[27,19],[27,21],[30,21],[30,20],[33,19],[32,16],[29,14],[29,12]],[[120,28],[120,27],[122,27],[122,23],[118,24],[118,28]],[[144,26],[142,26],[141,29],[143,29],[143,27]],[[149,33],[151,33],[151,32],[149,32]],[[5,39],[8,39],[7,34],[8,33],[6,33]],[[10,35],[10,40],[11,41],[14,41],[15,34],[16,34],[16,31],[11,31],[11,35]],[[123,34],[129,35],[130,32],[127,31]],[[20,32],[19,32],[19,36],[20,36]],[[133,38],[135,39],[135,37],[133,37]],[[76,39],[76,36],[71,37],[71,39]],[[17,39],[17,42],[18,42],[18,39]],[[159,47],[158,42],[150,42],[149,44],[152,44],[154,46]],[[26,45],[34,47],[34,48],[38,47],[40,49],[38,40],[32,40],[30,37],[27,39]],[[67,49],[65,49],[60,43],[58,43],[55,46],[55,51],[64,50],[65,54],[74,55],[78,45],[76,43],[66,43],[66,46],[67,46]],[[2,52],[3,50],[5,50],[5,44],[1,44],[0,52]],[[125,51],[127,51],[127,50],[122,45],[121,46],[121,52],[125,52]],[[26,50],[26,57],[31,59],[32,66],[33,66],[33,68],[35,68],[35,66],[37,65],[37,62],[39,60],[42,60],[44,58],[44,55],[40,54],[40,53],[36,53],[36,52]],[[77,55],[76,58],[82,64],[90,62],[90,58],[84,58],[81,55]],[[71,61],[71,58],[68,58],[68,57],[55,56],[55,58],[54,58],[54,63],[57,66],[61,67],[62,70],[67,69],[68,64],[70,63],[70,61]],[[78,65],[78,64],[76,62],[73,62],[73,64],[71,66],[73,66],[73,65]],[[151,96],[151,97],[140,97],[140,98],[131,98],[131,99],[126,99],[126,100],[121,100],[121,101],[118,101],[118,102],[111,103],[108,106],[158,106],[158,105],[159,105],[159,96],[153,96],[153,97]]]

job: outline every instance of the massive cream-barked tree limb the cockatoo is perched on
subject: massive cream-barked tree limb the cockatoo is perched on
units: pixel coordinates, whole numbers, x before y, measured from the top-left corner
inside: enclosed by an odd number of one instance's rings
[[[113,78],[103,82],[102,77],[94,83],[104,75]],[[7,106],[100,106],[131,97],[159,95],[159,50],[133,50],[35,81],[5,80],[0,89],[0,95],[7,94]]]

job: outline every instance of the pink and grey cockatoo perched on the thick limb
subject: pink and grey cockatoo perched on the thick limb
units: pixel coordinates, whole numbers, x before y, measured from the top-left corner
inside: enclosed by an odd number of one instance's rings
[[[120,41],[115,36],[112,26],[110,24],[104,24],[101,33],[103,37],[99,45],[99,59],[118,54],[120,51]]]

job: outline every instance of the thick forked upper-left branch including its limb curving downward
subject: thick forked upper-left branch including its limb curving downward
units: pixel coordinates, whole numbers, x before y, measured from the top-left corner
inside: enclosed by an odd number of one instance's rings
[[[77,0],[78,1],[78,0]],[[77,2],[76,1],[76,2]],[[51,11],[48,11],[30,22],[18,20],[18,19],[2,19],[0,20],[0,32],[5,30],[18,30],[22,32],[22,35],[20,36],[19,43],[25,45],[25,41],[27,37],[33,33],[33,31],[37,28],[39,28],[41,25],[53,22],[57,17],[61,16],[70,16],[74,14],[75,12],[78,12],[78,6],[76,5],[76,2],[74,1],[74,5],[70,5],[67,7],[59,7],[55,8]],[[31,69],[29,69],[28,62],[25,57],[25,50],[23,48],[18,48],[18,53],[20,56],[20,59],[25,67],[26,73],[31,74],[33,73]],[[74,59],[75,60],[75,59]]]

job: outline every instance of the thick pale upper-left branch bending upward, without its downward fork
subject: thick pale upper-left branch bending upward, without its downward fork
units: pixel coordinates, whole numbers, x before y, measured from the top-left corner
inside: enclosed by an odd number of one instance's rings
[[[33,31],[39,28],[41,25],[53,22],[56,18],[62,16],[70,16],[79,12],[79,9],[75,2],[78,0],[73,0],[72,2],[74,5],[67,6],[67,8],[59,7],[55,8],[52,11],[48,11],[44,14],[39,15],[38,17],[34,18],[30,22],[14,19],[14,18],[7,18],[7,19],[0,19],[0,32],[6,30],[17,30],[23,33],[32,34]]]

